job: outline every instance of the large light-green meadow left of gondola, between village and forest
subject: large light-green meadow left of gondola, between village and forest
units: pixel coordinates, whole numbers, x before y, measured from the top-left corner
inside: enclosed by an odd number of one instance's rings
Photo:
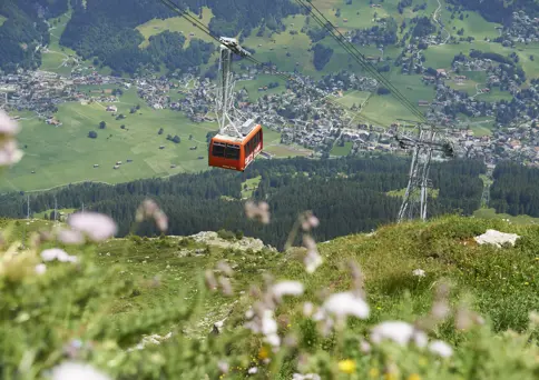
[[[86,180],[117,183],[207,168],[206,133],[214,131],[216,126],[193,123],[180,112],[151,110],[136,94],[126,92],[127,96],[116,103],[118,113],[126,116],[124,120],[116,120],[106,112],[107,104],[101,103],[60,104],[56,114],[62,122],[60,127],[39,119],[23,120],[19,143],[28,148],[2,187],[36,190]],[[130,114],[129,109],[137,103],[141,103],[139,113]],[[100,121],[107,123],[106,129],[99,129]],[[121,124],[126,129],[120,129]],[[160,136],[157,134],[159,128],[164,128]],[[98,133],[96,139],[88,138],[91,130]],[[166,140],[167,134],[178,134],[182,142]],[[189,134],[193,141],[188,140]],[[160,146],[165,149],[159,149]],[[189,149],[195,146],[197,150]],[[203,159],[199,160],[199,156]],[[117,161],[122,164],[115,170]],[[94,168],[94,164],[99,167]],[[176,168],[171,168],[173,164]]]

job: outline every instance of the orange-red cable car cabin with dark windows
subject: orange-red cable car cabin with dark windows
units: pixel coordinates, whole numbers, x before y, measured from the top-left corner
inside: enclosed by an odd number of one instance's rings
[[[242,138],[216,134],[209,142],[208,164],[210,167],[244,171],[263,149],[261,124]]]

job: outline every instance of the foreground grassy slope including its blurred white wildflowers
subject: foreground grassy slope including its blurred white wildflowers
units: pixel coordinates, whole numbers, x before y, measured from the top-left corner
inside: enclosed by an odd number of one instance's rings
[[[37,221],[2,226],[8,243],[23,230],[50,228]],[[520,238],[513,248],[478,246],[473,238],[491,228]],[[297,232],[308,240],[308,229]],[[386,226],[318,244],[323,263],[313,273],[305,271],[302,249],[239,251],[178,237],[80,247],[38,242],[17,261],[2,261],[2,316],[12,316],[0,326],[2,377],[22,371],[33,379],[49,369],[59,376],[57,366],[82,361],[115,379],[535,379],[538,317],[529,311],[539,302],[538,238],[537,228],[473,218]],[[46,261],[42,274],[26,274],[51,247],[78,263]],[[205,290],[204,271],[210,289],[213,278],[218,281],[217,291]],[[249,332],[249,306],[256,316],[272,304],[272,283],[291,296],[275,298],[275,312],[261,316],[270,323],[262,333]],[[259,290],[245,292],[249,286]],[[351,289],[364,294],[354,301],[364,299],[362,309],[346,308],[344,299],[330,308],[327,297],[353,297],[345,293]],[[316,311],[324,300],[326,310],[356,317],[341,327],[331,323],[333,313],[312,317],[311,304]],[[388,324],[390,340],[379,341],[384,321],[415,322],[419,330],[413,338],[405,324]],[[217,334],[210,333],[214,323]],[[423,347],[421,331],[431,346]],[[144,349],[131,351],[141,340]],[[33,360],[20,368],[28,354]]]

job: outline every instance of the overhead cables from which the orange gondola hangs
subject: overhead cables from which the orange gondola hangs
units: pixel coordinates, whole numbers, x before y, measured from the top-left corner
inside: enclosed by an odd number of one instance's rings
[[[222,41],[218,37],[214,36],[212,33],[212,31],[204,24],[202,23],[197,18],[193,17],[192,14],[189,14],[189,12],[185,9],[182,9],[178,4],[176,4],[174,1],[171,0],[159,0],[163,4],[165,4],[167,8],[169,8],[170,10],[173,10],[175,13],[177,13],[178,16],[183,17],[184,19],[186,19],[187,21],[192,22],[194,27],[198,28],[200,31],[203,31],[204,33],[206,33],[208,37],[210,37],[212,39],[214,39],[217,43],[222,44]],[[258,61],[257,59],[255,59],[253,56],[247,56],[247,57],[244,57],[244,59],[251,61],[252,63],[256,64],[256,66],[262,66],[262,67],[268,67],[267,63],[264,63],[264,62],[261,62]],[[296,83],[298,83],[300,86],[302,86],[304,89],[308,89],[308,87],[304,83],[302,83],[301,81],[298,81],[297,79],[295,79],[293,76],[286,76],[277,70],[274,70],[272,69],[272,67],[268,68],[274,76],[276,77],[280,77],[281,79],[285,80],[285,81],[294,81]],[[312,88],[314,89],[314,88]],[[332,100],[332,99],[324,99],[325,102],[330,103],[330,104],[333,104],[335,106],[336,108],[340,108],[340,109],[343,109],[345,110],[346,112],[351,112],[353,116],[355,116],[357,119],[361,119],[361,120],[364,120],[371,124],[380,124],[380,126],[383,126],[383,123],[379,122],[379,121],[375,121],[373,119],[370,119],[359,112],[354,112],[352,110],[350,110],[349,108],[346,108],[344,104],[341,104],[340,102],[335,101],[335,100]]]

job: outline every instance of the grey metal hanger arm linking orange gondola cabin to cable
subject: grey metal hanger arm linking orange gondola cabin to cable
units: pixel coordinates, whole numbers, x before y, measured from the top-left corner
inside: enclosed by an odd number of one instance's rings
[[[234,77],[232,71],[233,53],[247,57],[249,52],[239,47],[232,38],[222,37],[219,51],[219,76],[216,96],[216,114],[219,134],[243,138],[245,130],[251,131],[253,120],[245,118],[234,107]]]

